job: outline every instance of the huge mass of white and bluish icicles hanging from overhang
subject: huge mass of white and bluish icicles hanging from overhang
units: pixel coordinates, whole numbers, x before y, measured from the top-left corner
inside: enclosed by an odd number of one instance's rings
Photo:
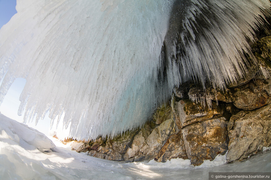
[[[59,122],[70,137],[142,125],[188,80],[223,88],[245,72],[247,39],[269,0],[17,0],[0,30],[0,102],[26,78],[18,114]],[[57,123],[58,124],[58,123]]]

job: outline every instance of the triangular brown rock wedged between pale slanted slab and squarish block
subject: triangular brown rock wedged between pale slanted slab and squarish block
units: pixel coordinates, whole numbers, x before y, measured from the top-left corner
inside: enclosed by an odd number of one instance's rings
[[[157,162],[166,162],[167,160],[175,158],[188,159],[181,131],[169,137],[158,155],[155,157],[155,160],[157,160]]]

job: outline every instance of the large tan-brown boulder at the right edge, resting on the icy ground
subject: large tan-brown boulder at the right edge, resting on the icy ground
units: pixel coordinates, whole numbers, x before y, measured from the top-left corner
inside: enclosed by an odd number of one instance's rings
[[[229,151],[227,160],[244,160],[249,155],[271,146],[271,104],[253,111],[241,111],[228,124]]]

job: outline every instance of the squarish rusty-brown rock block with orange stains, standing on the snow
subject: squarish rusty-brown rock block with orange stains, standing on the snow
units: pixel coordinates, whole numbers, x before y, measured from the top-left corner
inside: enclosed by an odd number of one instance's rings
[[[186,154],[193,165],[213,160],[228,150],[227,122],[224,117],[198,122],[182,129]]]

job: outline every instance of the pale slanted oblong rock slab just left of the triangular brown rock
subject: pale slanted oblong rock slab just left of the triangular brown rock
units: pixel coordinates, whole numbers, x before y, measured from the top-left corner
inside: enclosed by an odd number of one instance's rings
[[[168,138],[176,133],[176,125],[173,119],[168,119],[156,127],[147,137],[140,147],[143,155],[148,155],[150,159],[154,158],[160,149],[164,146]]]

